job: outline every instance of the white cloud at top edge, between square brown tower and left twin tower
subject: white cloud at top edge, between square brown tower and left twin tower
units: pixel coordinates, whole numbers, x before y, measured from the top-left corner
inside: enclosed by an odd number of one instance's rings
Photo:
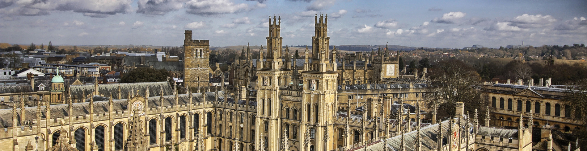
[[[266,5],[249,6],[248,4],[235,4],[231,0],[191,0],[187,3],[187,13],[200,16],[220,15],[225,13],[238,13],[264,8]]]

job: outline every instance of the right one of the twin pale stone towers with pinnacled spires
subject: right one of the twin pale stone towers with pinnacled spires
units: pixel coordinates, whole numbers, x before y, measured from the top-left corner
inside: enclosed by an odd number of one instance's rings
[[[309,140],[302,148],[308,150],[333,150],[333,116],[336,108],[336,50],[329,49],[330,37],[326,35],[328,15],[316,15],[315,36],[312,37],[312,61],[306,51],[306,62],[301,72],[302,90],[302,135]]]

